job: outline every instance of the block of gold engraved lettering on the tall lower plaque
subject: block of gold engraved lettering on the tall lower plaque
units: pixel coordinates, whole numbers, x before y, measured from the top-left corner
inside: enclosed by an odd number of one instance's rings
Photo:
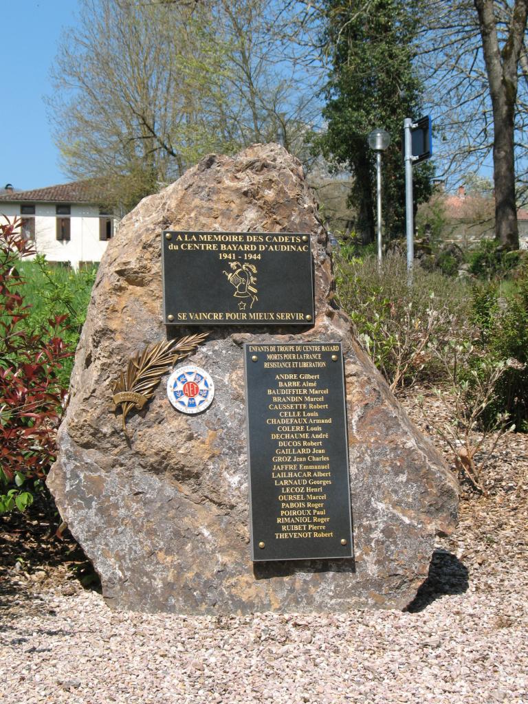
[[[267,475],[272,487],[267,492],[271,500],[268,523],[271,522],[272,541],[331,541],[343,547],[341,540],[347,539],[348,533],[335,520],[338,467],[332,466],[331,456],[332,446],[336,441],[339,444],[334,432],[336,415],[339,432],[343,432],[341,346],[249,344],[247,347],[251,360],[247,364],[260,367],[267,382],[261,390],[265,403],[260,420],[263,425],[260,480],[266,481]],[[329,377],[337,378],[341,388],[336,389],[335,382],[331,388]],[[346,448],[343,437],[341,447]],[[335,450],[333,447],[334,459]],[[339,465],[342,480],[343,469],[347,475],[346,457],[341,458]],[[266,533],[269,541],[270,531]],[[260,535],[254,534],[253,539],[259,540]],[[266,548],[265,543],[263,549]]]

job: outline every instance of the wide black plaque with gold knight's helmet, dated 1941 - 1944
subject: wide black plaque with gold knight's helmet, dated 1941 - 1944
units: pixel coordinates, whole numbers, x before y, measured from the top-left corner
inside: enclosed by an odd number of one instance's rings
[[[165,325],[311,325],[310,235],[165,231]]]

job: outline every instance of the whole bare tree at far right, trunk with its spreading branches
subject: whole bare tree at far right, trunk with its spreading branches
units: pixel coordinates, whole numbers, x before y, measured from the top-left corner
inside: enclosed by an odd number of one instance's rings
[[[422,23],[417,63],[441,137],[437,163],[460,179],[493,154],[496,237],[518,247],[515,191],[522,193],[527,176],[528,74],[521,82],[517,76],[527,64],[527,0],[432,0]]]

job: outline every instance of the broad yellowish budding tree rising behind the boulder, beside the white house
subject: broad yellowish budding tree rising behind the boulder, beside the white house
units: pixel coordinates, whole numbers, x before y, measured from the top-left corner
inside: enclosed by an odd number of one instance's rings
[[[54,67],[56,139],[71,176],[103,177],[130,207],[216,146],[195,96],[199,87],[202,101],[214,94],[202,74],[221,56],[205,51],[187,8],[117,0],[81,7],[80,29]]]

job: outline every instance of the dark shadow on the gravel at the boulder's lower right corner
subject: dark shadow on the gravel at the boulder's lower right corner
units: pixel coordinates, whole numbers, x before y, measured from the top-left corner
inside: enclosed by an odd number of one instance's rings
[[[446,550],[435,550],[427,579],[404,610],[417,613],[441,596],[463,594],[469,586],[468,577],[467,567],[455,555]]]

